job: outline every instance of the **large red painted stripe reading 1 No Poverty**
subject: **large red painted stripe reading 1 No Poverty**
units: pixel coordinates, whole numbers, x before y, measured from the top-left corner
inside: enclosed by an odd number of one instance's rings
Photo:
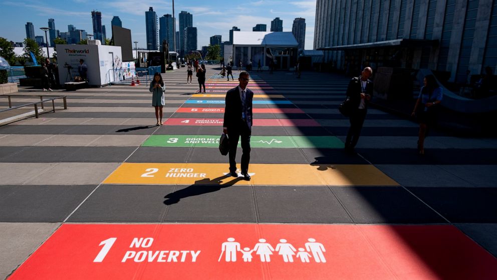
[[[495,267],[451,225],[63,224],[9,279],[496,279]]]

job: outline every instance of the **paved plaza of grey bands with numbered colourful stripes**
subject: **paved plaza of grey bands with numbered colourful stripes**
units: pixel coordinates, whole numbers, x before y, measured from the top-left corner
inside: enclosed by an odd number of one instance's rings
[[[143,83],[0,126],[0,278],[497,278],[497,139],[435,129],[420,157],[418,124],[372,107],[346,154],[348,78],[251,71],[244,181],[218,150],[238,71],[218,72],[205,94],[163,74],[162,126]]]

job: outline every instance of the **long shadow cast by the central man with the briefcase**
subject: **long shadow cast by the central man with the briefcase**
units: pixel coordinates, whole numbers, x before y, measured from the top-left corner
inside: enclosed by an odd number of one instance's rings
[[[216,192],[219,191],[220,189],[231,187],[234,184],[236,184],[236,182],[239,182],[243,179],[242,177],[238,177],[234,178],[231,181],[221,184],[222,183],[221,181],[223,179],[227,179],[230,177],[231,176],[228,174],[214,178],[212,180],[210,180],[209,178],[205,178],[199,181],[195,181],[195,184],[191,186],[188,186],[181,190],[177,190],[175,192],[172,192],[164,196],[164,198],[166,198],[166,200],[164,200],[164,204],[172,205],[178,203],[182,198]]]

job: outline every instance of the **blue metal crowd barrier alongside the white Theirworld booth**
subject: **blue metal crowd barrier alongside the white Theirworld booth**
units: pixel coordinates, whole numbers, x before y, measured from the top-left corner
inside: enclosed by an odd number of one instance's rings
[[[106,76],[106,82],[109,85],[131,85],[133,80],[139,79],[148,85],[152,81],[156,72],[160,73],[160,66],[153,66],[148,68],[120,68],[110,69]]]

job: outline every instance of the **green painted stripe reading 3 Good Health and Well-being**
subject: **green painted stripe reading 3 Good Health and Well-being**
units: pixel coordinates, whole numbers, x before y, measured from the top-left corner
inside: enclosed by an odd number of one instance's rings
[[[144,147],[219,147],[216,135],[151,135]],[[253,148],[335,148],[344,147],[335,136],[252,136]]]

